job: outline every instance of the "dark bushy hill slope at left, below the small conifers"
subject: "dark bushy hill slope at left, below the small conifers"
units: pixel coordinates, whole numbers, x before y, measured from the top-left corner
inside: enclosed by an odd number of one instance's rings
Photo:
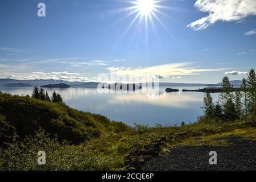
[[[58,135],[59,140],[75,144],[129,129],[122,123],[110,122],[102,115],[71,109],[65,104],[3,93],[0,93],[0,127],[1,143],[8,141],[14,133],[19,139],[33,136],[40,127],[51,138]]]

